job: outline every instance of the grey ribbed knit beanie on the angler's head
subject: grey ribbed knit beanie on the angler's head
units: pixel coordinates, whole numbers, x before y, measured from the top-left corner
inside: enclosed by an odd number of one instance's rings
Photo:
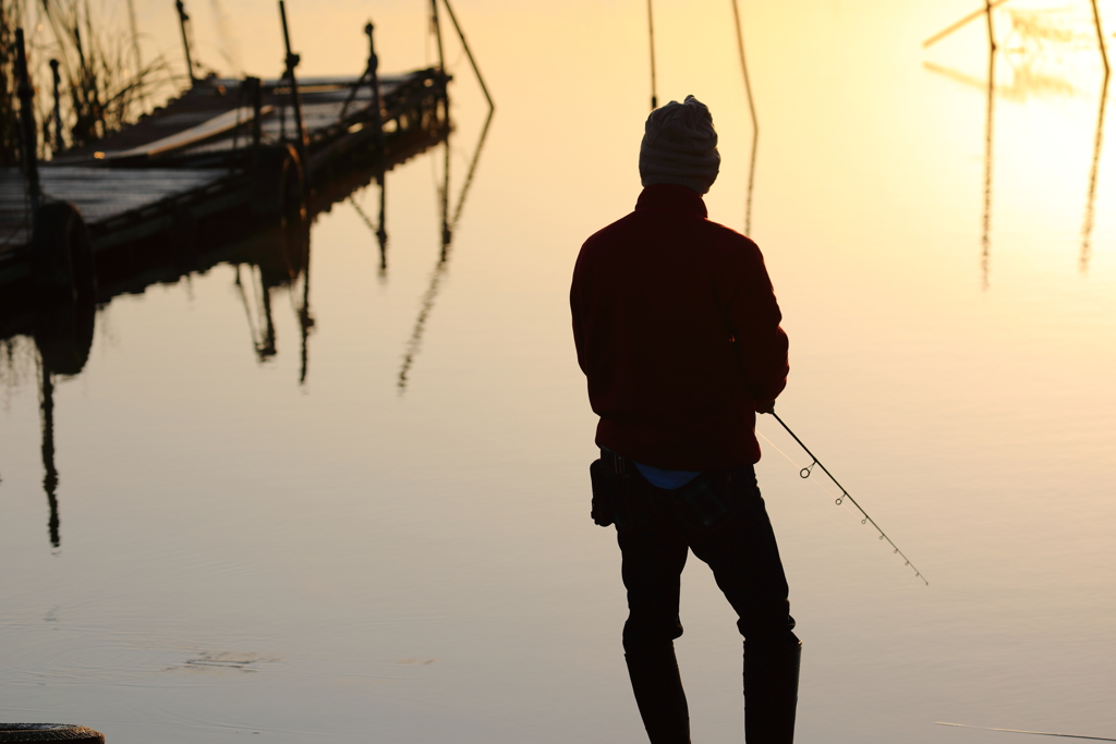
[[[721,170],[716,131],[705,104],[693,96],[656,108],[644,125],[639,177],[644,186],[676,183],[709,192]]]

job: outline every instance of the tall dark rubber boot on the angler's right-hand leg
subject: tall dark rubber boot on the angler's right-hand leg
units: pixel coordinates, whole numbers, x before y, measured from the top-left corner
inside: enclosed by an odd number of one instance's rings
[[[802,641],[788,634],[778,641],[744,641],[744,741],[791,744],[798,707]]]

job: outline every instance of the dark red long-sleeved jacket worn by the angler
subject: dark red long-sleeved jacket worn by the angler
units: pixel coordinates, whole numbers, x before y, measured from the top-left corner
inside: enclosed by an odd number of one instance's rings
[[[756,410],[787,385],[787,335],[760,249],[685,186],[581,247],[570,307],[597,444],[670,470],[758,462]]]

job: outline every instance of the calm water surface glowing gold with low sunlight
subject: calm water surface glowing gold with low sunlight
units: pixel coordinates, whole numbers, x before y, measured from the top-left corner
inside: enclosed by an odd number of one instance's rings
[[[173,61],[164,4],[140,23]],[[191,4],[203,61],[278,71],[269,2]],[[1116,113],[1088,3],[997,11],[991,106],[982,22],[921,47],[973,3],[741,4],[751,234],[791,338],[780,413],[931,582],[760,422],[800,741],[1019,737],[942,721],[1116,737]],[[386,68],[433,59],[417,0],[290,10],[304,74],[358,69],[368,13]],[[455,10],[499,108],[448,261],[439,149],[388,175],[386,274],[352,203],[314,224],[302,384],[301,289],[272,292],[261,361],[251,267],[247,313],[228,264],[107,305],[84,370],[56,380],[58,547],[35,347],[12,341],[0,719],[113,744],[644,741],[566,299],[581,241],[638,194],[643,6]],[[710,105],[708,204],[742,229],[731,7],[656,13],[660,96]],[[455,199],[485,107],[448,58]],[[354,200],[374,216],[377,187]],[[739,637],[699,561],[683,622],[694,741],[741,741]]]

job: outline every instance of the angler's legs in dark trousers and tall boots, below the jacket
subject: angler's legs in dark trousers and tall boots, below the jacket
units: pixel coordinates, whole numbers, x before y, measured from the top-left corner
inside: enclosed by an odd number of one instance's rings
[[[616,524],[628,592],[625,661],[652,744],[690,742],[690,714],[674,656],[674,639],[682,635],[681,576],[690,550],[713,569],[745,639],[745,740],[792,744],[801,644],[793,634],[787,577],[754,468],[703,473],[667,491],[606,450],[594,466],[594,519]],[[599,511],[598,493],[607,501]]]

